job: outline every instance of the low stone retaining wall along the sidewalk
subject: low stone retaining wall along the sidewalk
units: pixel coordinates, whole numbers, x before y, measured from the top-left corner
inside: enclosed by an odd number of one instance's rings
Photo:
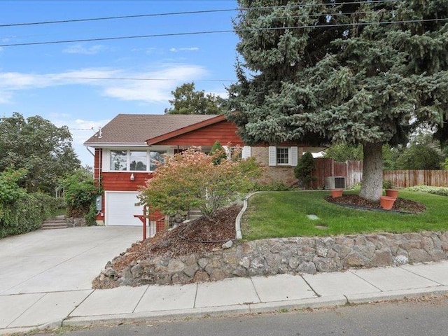
[[[203,255],[137,260],[121,272],[108,262],[95,279],[94,287],[191,283],[283,273],[315,274],[447,258],[448,232],[262,239]]]

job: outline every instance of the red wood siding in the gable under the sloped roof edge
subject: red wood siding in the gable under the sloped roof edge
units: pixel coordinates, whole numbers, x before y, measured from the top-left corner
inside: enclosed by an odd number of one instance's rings
[[[213,146],[216,140],[223,146],[228,143],[244,146],[243,141],[237,135],[237,126],[226,120],[160,141],[158,145]]]

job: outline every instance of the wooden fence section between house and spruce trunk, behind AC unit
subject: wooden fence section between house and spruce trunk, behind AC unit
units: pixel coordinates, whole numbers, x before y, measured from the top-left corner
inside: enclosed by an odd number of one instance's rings
[[[363,162],[346,161],[336,162],[332,159],[316,158],[314,159],[316,170],[313,181],[313,188],[323,188],[325,178],[330,176],[344,176],[346,187],[351,187],[363,179]]]

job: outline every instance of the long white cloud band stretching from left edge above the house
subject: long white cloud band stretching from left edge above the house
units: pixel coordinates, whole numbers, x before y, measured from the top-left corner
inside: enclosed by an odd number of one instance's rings
[[[126,101],[167,102],[172,98],[171,91],[177,86],[200,79],[207,74],[204,67],[197,65],[159,64],[157,68],[157,70],[142,69],[139,72],[110,68],[44,74],[0,72],[0,104],[10,102],[13,93],[19,90],[61,85],[99,87],[102,95]],[[113,78],[137,78],[137,80],[113,80]]]

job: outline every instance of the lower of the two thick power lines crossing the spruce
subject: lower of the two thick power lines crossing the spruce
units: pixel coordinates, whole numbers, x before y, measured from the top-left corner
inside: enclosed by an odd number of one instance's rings
[[[254,29],[224,29],[215,31],[190,31],[186,33],[165,33],[165,34],[149,34],[149,35],[135,35],[135,36],[114,36],[114,37],[102,37],[102,38],[79,38],[74,40],[61,40],[61,41],[44,41],[44,42],[29,42],[29,43],[8,43],[0,44],[0,47],[15,47],[23,45],[47,45],[47,44],[62,44],[62,43],[76,43],[76,42],[92,42],[92,41],[113,41],[124,40],[132,38],[153,38],[153,37],[167,37],[167,36],[188,36],[188,35],[203,35],[203,34],[223,34],[223,33],[238,33],[245,31],[270,31],[270,30],[284,30],[284,29],[307,29],[307,28],[334,28],[334,27],[353,27],[353,26],[367,26],[367,25],[391,25],[398,23],[419,23],[419,22],[445,22],[448,18],[437,19],[422,19],[422,20],[399,20],[399,21],[381,21],[381,22],[352,22],[346,24],[336,25],[302,25],[302,26],[290,26],[290,27],[266,27],[266,28],[254,28]]]

